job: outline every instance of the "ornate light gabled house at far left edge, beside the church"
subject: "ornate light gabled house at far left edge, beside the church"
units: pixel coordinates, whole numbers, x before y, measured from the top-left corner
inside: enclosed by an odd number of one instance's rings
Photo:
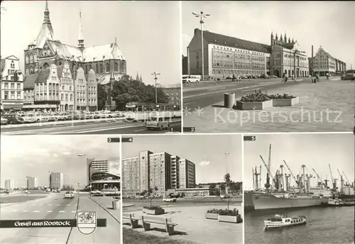
[[[23,74],[19,74],[19,60],[15,56],[1,59],[1,109],[22,109]]]

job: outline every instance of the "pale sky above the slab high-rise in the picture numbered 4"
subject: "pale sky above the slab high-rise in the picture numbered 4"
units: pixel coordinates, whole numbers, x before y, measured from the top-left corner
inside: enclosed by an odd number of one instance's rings
[[[227,171],[231,180],[241,182],[241,135],[149,135],[133,136],[133,143],[122,143],[122,158],[139,152],[166,152],[195,163],[196,184],[223,182]]]

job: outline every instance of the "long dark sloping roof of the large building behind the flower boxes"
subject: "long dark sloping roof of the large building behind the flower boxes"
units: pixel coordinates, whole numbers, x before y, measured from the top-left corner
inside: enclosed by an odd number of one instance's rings
[[[201,32],[200,29],[195,29],[195,32],[196,31]],[[203,32],[203,38],[208,43],[229,46],[231,48],[241,48],[241,49],[251,50],[251,51],[255,51],[255,52],[265,52],[265,53],[271,52],[270,45],[266,45],[266,44],[262,44],[262,43],[254,43],[250,40],[243,40],[243,39],[234,38],[234,37],[231,37],[228,35],[221,35],[221,34],[217,34],[217,33],[212,33],[207,30],[204,30],[204,32]]]

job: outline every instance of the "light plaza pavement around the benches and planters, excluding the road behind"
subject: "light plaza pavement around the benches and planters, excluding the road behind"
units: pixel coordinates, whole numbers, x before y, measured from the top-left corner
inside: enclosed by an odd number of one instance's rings
[[[175,235],[168,236],[165,231],[144,231],[143,227],[135,228],[139,233],[148,233],[161,238],[182,240],[192,243],[213,243],[213,244],[241,244],[243,243],[243,223],[222,223],[218,220],[206,219],[204,214],[208,209],[226,209],[226,204],[203,204],[202,206],[163,206],[166,214],[159,215],[165,218],[172,218],[175,226]],[[238,209],[242,213],[241,204],[233,204],[229,209]],[[124,208],[124,212],[135,214],[136,217],[143,215],[141,210]],[[243,218],[243,216],[242,216]],[[141,221],[139,221],[141,225]],[[124,228],[131,228],[126,222]],[[152,224],[151,228],[165,228]],[[144,244],[144,243],[142,243]]]

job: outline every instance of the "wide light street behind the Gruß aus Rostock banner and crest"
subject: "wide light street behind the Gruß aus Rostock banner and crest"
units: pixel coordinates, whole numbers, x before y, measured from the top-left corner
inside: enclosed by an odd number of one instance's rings
[[[113,244],[120,240],[120,223],[87,194],[75,194],[74,199],[63,199],[62,194],[55,193],[45,195],[32,201],[1,204],[1,220],[75,219],[78,210],[90,210],[97,211],[97,218],[107,218],[107,227],[98,227],[91,235],[83,235],[77,228],[2,228],[0,243]]]

